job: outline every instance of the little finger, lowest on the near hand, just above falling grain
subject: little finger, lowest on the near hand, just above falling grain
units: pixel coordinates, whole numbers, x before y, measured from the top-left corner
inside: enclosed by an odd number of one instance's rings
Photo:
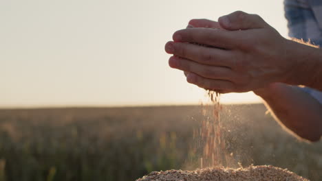
[[[232,82],[227,80],[211,80],[195,73],[189,73],[186,76],[186,81],[195,84],[201,88],[206,88],[207,90],[215,90],[219,93],[231,93],[234,92],[235,86]]]

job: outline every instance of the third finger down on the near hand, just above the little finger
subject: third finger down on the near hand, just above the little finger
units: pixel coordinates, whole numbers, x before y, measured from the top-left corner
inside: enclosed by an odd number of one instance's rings
[[[233,80],[235,73],[226,67],[215,67],[198,64],[191,60],[172,56],[169,58],[169,66],[189,73],[195,73],[208,79]]]

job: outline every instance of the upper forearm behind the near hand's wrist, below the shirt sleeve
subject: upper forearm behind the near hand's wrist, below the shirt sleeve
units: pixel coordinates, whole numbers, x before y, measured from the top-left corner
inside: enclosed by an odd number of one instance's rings
[[[301,40],[288,40],[288,58],[294,62],[286,73],[286,84],[304,85],[322,91],[322,49]]]

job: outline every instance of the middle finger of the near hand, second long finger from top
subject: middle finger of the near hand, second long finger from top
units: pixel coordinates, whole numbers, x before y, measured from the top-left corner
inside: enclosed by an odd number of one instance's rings
[[[172,51],[169,52],[173,53],[175,56],[193,60],[200,64],[224,66],[229,68],[233,68],[235,64],[233,54],[228,50],[203,47],[191,43],[169,42],[166,46],[172,47]]]

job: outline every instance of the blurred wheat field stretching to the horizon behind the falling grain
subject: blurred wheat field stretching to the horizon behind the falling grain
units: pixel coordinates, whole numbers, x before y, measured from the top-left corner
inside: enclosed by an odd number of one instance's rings
[[[262,104],[224,106],[236,164],[274,165],[322,180],[322,143],[298,141]],[[136,180],[200,167],[201,106],[0,110],[0,181]]]

